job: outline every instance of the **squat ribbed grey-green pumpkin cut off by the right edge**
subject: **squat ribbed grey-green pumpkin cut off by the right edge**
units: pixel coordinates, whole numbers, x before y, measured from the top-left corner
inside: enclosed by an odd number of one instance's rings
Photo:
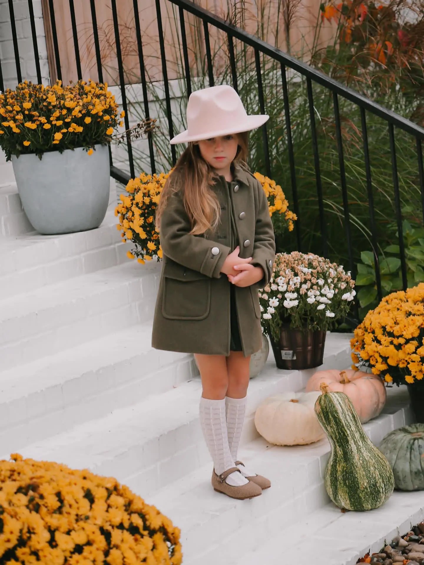
[[[424,490],[424,424],[411,424],[388,433],[380,451],[393,470],[395,489]]]

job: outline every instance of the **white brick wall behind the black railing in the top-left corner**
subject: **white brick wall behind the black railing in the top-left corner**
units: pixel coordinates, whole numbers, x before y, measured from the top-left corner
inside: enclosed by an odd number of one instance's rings
[[[14,0],[13,4],[22,80],[38,82],[28,2],[26,0]],[[33,0],[33,7],[42,82],[43,84],[50,84],[41,0]],[[15,88],[17,84],[17,74],[7,0],[0,0],[0,60],[5,89]]]

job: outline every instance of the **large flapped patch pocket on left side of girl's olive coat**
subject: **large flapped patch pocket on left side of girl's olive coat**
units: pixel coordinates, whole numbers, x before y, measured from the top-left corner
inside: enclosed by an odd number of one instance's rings
[[[162,315],[169,320],[204,320],[210,312],[210,278],[177,264],[164,270]]]

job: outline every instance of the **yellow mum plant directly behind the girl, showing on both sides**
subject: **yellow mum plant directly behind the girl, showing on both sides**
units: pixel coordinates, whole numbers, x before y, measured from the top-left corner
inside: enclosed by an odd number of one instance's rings
[[[170,171],[171,172],[171,171]],[[128,194],[121,194],[120,203],[115,208],[119,224],[117,229],[121,231],[122,241],[131,241],[134,247],[127,252],[129,259],[137,258],[139,263],[162,258],[162,247],[160,245],[159,232],[154,226],[154,215],[158,205],[162,189],[164,188],[169,173],[160,175],[147,175],[142,173],[136,179],[131,179],[126,186]],[[254,173],[265,191],[268,199],[270,216],[275,229],[284,232],[293,230],[293,222],[297,216],[289,210],[281,186],[260,173]]]

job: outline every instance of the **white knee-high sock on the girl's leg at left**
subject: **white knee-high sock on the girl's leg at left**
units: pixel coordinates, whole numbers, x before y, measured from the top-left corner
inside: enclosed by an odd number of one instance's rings
[[[220,475],[220,473],[234,467],[234,459],[231,457],[228,446],[225,399],[211,400],[201,397],[200,424],[207,448],[214,462],[215,473]],[[241,473],[237,472],[228,475],[226,482],[232,486],[241,486],[248,483]]]

